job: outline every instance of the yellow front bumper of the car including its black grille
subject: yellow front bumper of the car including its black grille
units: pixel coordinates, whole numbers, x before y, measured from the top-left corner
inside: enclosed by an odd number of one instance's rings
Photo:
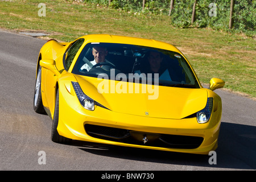
[[[165,119],[116,113],[96,106],[84,109],[76,96],[60,94],[58,133],[67,138],[138,147],[153,150],[207,154],[217,148],[220,118],[218,111],[210,121],[196,118]],[[145,138],[146,137],[146,138]],[[147,142],[144,142],[144,140]]]

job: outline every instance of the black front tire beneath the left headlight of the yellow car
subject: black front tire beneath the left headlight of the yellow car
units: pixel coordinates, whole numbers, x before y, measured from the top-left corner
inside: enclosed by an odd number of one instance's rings
[[[51,140],[52,142],[56,142],[56,143],[70,143],[72,139],[65,138],[59,135],[57,131],[58,123],[59,123],[59,89],[57,89],[57,94],[56,94],[55,110],[54,110],[53,121],[52,121]]]

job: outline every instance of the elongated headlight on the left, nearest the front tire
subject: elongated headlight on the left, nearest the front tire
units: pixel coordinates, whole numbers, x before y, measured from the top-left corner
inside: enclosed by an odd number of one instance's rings
[[[73,88],[75,89],[76,96],[79,99],[81,105],[88,110],[94,110],[94,100],[92,98],[86,96],[84,92],[82,92],[82,89],[78,82],[72,81]]]

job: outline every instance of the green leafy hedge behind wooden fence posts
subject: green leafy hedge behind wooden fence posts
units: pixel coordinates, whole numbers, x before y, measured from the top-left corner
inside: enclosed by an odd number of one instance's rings
[[[84,0],[85,3],[108,5],[109,0]],[[176,27],[211,27],[217,30],[229,30],[230,0],[197,0],[196,19],[191,24],[193,3],[195,0],[175,0],[170,22]],[[209,16],[210,3],[216,3],[216,16]],[[142,0],[113,0],[110,7],[142,13]],[[170,0],[146,0],[143,14],[168,15]],[[233,31],[242,31],[255,35],[256,26],[256,1],[240,0],[234,5]],[[168,17],[167,17],[168,18]]]

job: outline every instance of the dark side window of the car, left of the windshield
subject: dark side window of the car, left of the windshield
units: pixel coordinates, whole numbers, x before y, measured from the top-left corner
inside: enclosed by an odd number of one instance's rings
[[[68,49],[68,52],[64,54],[65,59],[65,67],[68,70],[74,57],[76,56],[77,51],[79,51],[79,48],[82,46],[82,43],[84,43],[84,39],[79,39],[73,45],[71,48]]]

